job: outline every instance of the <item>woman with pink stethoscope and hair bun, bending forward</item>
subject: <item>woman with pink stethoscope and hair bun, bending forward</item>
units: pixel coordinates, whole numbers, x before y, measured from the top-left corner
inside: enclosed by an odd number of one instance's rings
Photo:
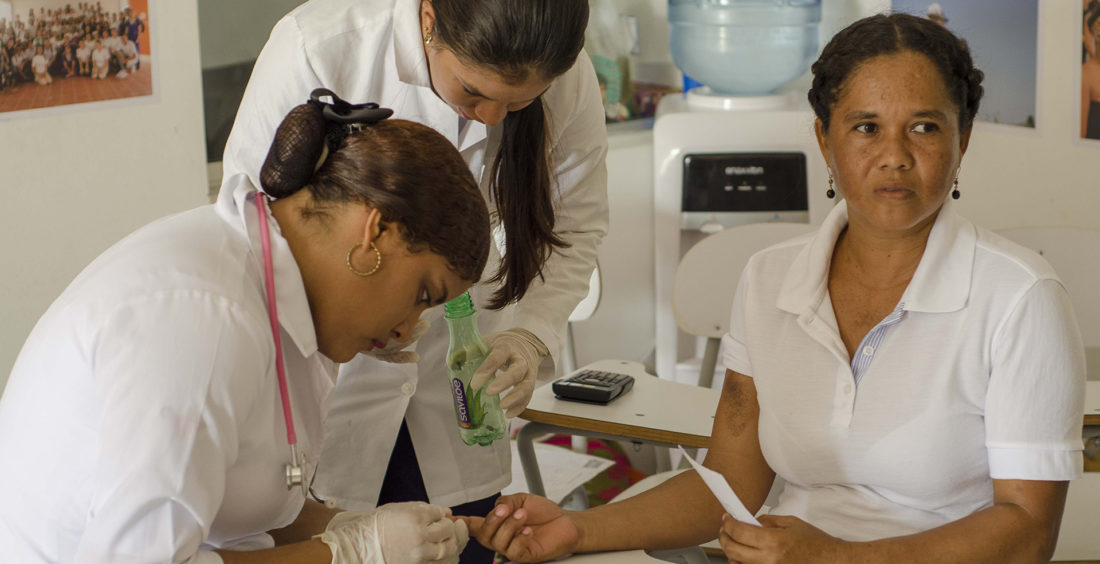
[[[140,229],[51,306],[0,400],[19,453],[0,560],[458,562],[465,524],[443,508],[333,517],[305,495],[337,363],[408,340],[488,256],[462,156],[388,114],[315,91],[279,126],[266,193]]]

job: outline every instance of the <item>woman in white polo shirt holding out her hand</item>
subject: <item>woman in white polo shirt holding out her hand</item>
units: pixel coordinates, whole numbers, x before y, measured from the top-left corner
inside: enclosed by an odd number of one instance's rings
[[[762,527],[686,472],[562,512],[502,498],[471,533],[520,562],[718,538],[730,562],[1046,562],[1081,472],[1085,358],[1062,283],[959,217],[982,74],[946,29],[875,15],[813,65],[810,102],[843,197],[737,287],[705,465]]]

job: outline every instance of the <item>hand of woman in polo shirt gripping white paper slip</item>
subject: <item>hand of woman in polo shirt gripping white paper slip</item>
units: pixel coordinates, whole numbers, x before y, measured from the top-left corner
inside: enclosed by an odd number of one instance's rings
[[[728,513],[722,516],[718,543],[729,562],[848,562],[844,554],[846,542],[798,517],[766,515],[760,517],[760,524],[763,527],[743,523]]]

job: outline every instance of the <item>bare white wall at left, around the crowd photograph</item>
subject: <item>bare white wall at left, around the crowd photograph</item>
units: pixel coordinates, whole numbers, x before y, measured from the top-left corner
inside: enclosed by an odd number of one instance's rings
[[[197,2],[154,2],[154,99],[0,113],[0,386],[34,322],[88,262],[207,201]]]

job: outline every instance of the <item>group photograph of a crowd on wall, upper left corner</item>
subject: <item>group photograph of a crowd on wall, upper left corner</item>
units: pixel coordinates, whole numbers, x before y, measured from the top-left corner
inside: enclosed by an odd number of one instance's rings
[[[151,0],[0,0],[0,117],[153,95]]]

